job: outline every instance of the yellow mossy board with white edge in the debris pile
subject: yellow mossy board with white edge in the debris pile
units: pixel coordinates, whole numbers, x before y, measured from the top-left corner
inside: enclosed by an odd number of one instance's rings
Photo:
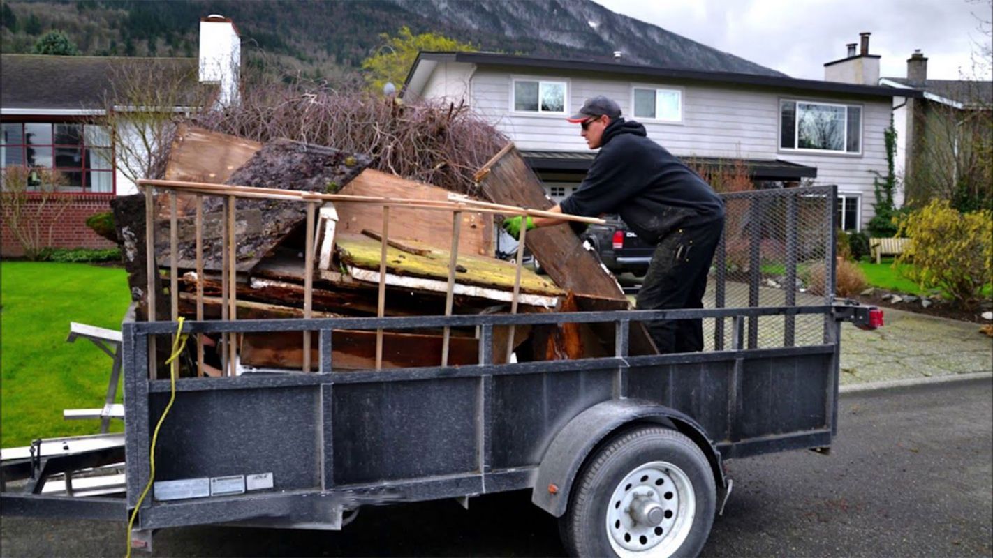
[[[451,242],[451,240],[450,240]],[[420,251],[428,252],[426,255],[413,254],[392,246],[386,247],[386,273],[389,276],[402,277],[408,279],[428,279],[443,280],[447,290],[447,280],[449,276],[449,264],[451,254],[448,250],[435,248],[417,241],[408,240],[405,244]],[[368,280],[371,277],[366,272],[379,269],[381,260],[381,242],[375,241],[365,236],[339,235],[338,237],[339,258],[343,264],[349,268],[349,273],[355,279]],[[467,287],[476,286],[488,290],[486,297],[494,300],[509,301],[511,298],[510,289],[513,288],[516,277],[516,266],[510,262],[497,260],[497,258],[487,258],[484,256],[466,255],[460,256],[457,272],[457,288],[462,287],[462,294],[469,294]],[[376,273],[378,278],[378,273]],[[378,279],[377,279],[378,280]],[[393,282],[398,285],[400,282]],[[404,286],[418,288],[416,281],[404,281]],[[425,290],[436,290],[433,286],[422,287]],[[490,290],[502,292],[496,297],[489,293]],[[541,278],[530,270],[524,270],[520,279],[521,293],[539,295],[542,297],[556,297],[564,295],[565,292],[555,286],[551,281]],[[534,304],[534,302],[524,302]]]

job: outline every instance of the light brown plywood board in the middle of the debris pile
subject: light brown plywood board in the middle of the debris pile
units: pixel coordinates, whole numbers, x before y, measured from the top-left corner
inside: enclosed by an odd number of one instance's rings
[[[367,195],[423,199],[427,201],[458,201],[451,192],[438,186],[408,180],[395,174],[366,168],[344,185],[338,192],[349,195]],[[339,203],[339,233],[360,234],[363,229],[382,229],[382,208],[367,203]],[[452,211],[447,209],[390,208],[390,220],[402,223],[393,231],[390,239],[410,239],[432,246],[449,246],[452,241]],[[462,212],[462,235],[459,237],[459,254],[493,256],[494,254],[493,216],[473,212]]]

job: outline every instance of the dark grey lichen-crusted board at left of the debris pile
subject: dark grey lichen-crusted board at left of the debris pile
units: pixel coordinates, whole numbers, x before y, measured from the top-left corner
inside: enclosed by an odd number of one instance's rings
[[[350,154],[323,146],[277,140],[266,144],[226,180],[230,184],[255,187],[331,192],[347,184],[370,163],[364,155]],[[204,269],[221,269],[222,195],[204,200]],[[235,201],[234,234],[237,240],[236,269],[247,272],[272,253],[307,217],[307,204],[278,199],[238,198]],[[167,223],[158,223],[162,230]],[[178,250],[179,267],[192,268],[196,258],[195,226],[190,219],[181,220]],[[161,262],[169,261],[169,245],[156,235],[156,254]]]

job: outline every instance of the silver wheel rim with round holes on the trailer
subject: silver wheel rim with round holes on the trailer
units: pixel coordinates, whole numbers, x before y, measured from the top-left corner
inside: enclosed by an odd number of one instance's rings
[[[633,469],[614,489],[607,504],[607,538],[622,558],[665,558],[682,546],[695,515],[689,477],[671,463],[652,461]]]

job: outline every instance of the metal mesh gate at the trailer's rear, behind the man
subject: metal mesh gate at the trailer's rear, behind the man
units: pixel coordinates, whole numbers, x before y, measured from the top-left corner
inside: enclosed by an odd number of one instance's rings
[[[705,306],[828,304],[834,294],[836,186],[722,194],[724,235]],[[705,320],[706,349],[792,347],[826,342],[819,314]]]

